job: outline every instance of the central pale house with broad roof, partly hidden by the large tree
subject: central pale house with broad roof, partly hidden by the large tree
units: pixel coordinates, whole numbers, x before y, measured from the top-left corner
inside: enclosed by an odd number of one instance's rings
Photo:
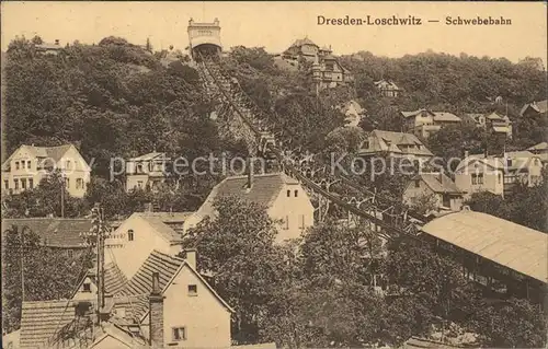
[[[281,221],[277,243],[299,237],[308,226],[313,225],[313,207],[300,183],[284,173],[267,173],[225,178],[185,222],[185,232],[206,217],[215,217],[214,202],[220,197],[237,197],[264,207],[273,220]]]

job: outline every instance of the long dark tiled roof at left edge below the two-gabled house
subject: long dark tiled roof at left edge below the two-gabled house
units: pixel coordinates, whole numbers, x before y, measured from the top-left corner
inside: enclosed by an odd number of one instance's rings
[[[2,236],[12,225],[19,229],[28,226],[42,243],[50,247],[84,248],[82,233],[88,233],[91,220],[80,218],[21,218],[2,220]]]

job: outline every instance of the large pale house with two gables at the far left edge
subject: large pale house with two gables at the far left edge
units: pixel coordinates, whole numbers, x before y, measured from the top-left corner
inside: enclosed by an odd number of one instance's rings
[[[42,178],[60,171],[67,193],[81,198],[90,183],[91,167],[73,144],[19,147],[2,163],[2,188],[19,194],[38,186]]]

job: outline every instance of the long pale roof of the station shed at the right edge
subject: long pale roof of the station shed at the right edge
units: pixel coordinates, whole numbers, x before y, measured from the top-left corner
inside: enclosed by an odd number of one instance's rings
[[[464,210],[422,231],[543,282],[548,282],[548,234],[494,216]]]

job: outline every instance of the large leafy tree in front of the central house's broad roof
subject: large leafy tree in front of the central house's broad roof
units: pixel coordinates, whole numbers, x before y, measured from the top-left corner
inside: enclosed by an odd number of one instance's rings
[[[216,291],[235,310],[237,340],[258,339],[258,324],[285,268],[274,246],[275,223],[263,207],[221,198],[218,212],[189,232],[187,245],[199,252],[198,270],[213,274]]]

